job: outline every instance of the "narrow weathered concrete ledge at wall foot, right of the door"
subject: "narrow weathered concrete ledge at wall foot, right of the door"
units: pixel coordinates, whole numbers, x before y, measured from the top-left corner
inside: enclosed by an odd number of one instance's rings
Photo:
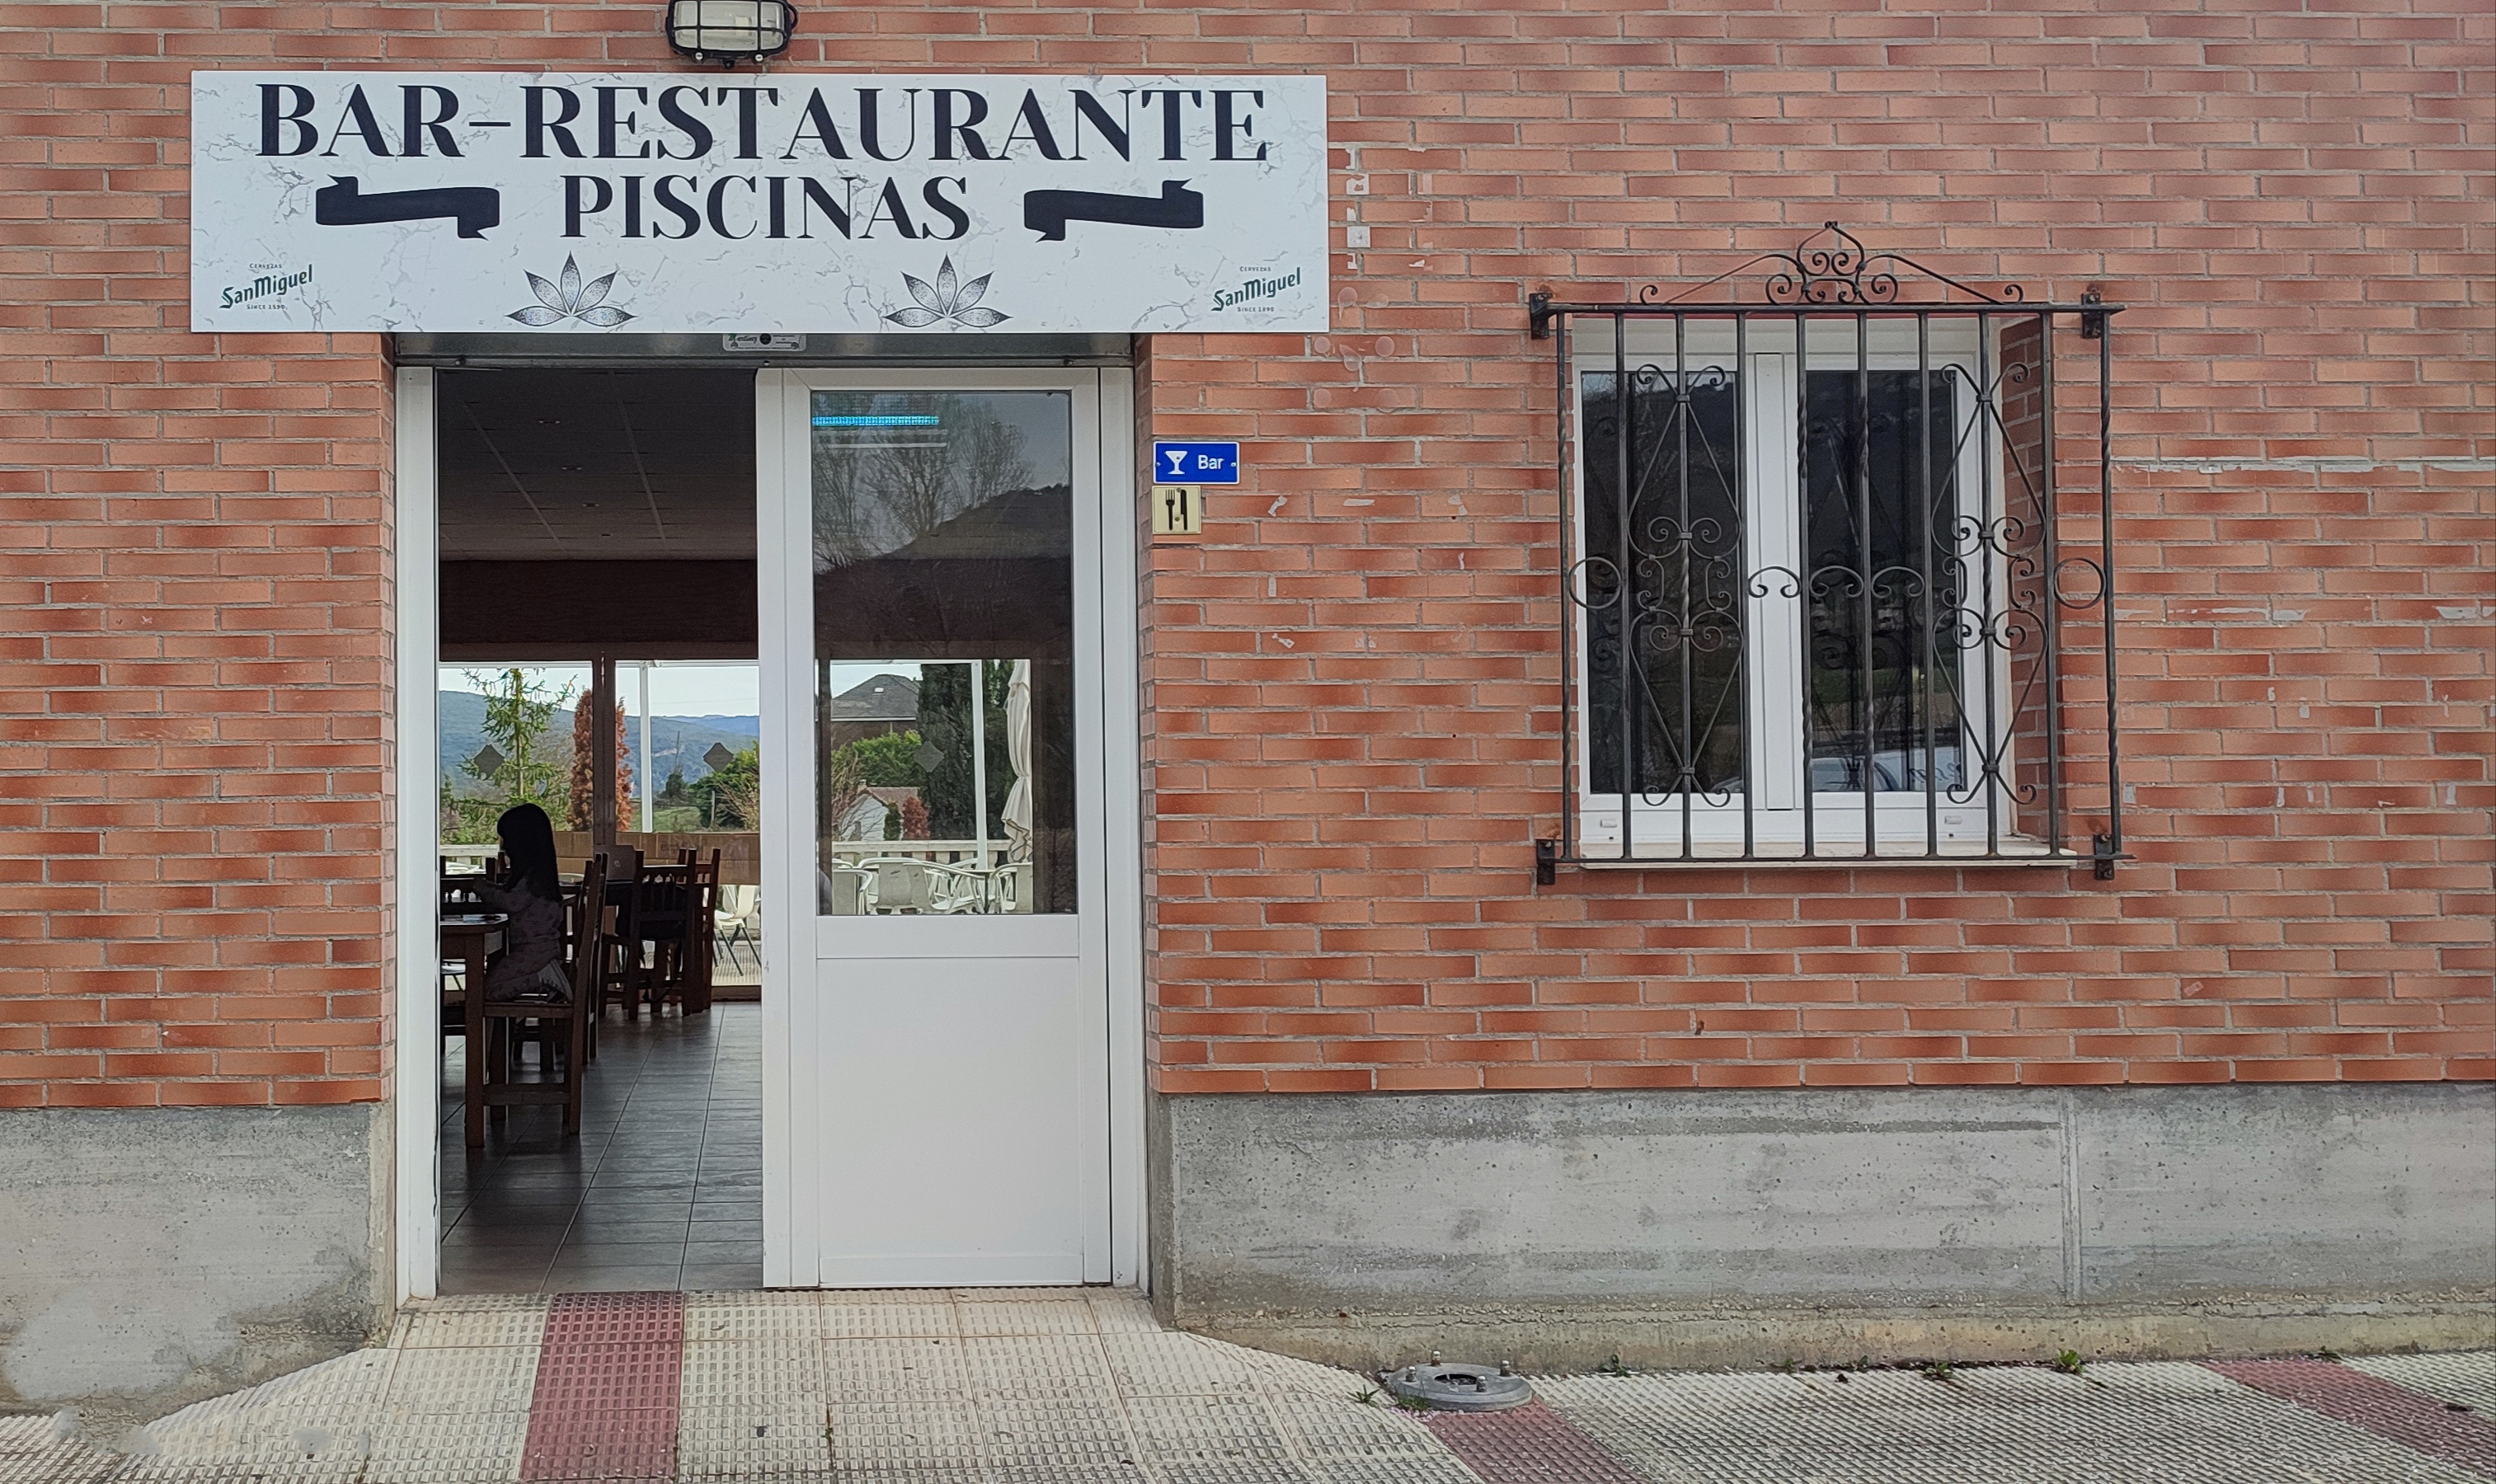
[[[1513,1359],[1538,1372],[1767,1369],[1777,1364],[1894,1364],[1949,1359],[2037,1362],[2064,1349],[2087,1359],[2204,1359],[2379,1354],[2496,1347],[2496,1297],[2401,1297],[2379,1304],[2196,1302],[2174,1309],[1637,1309],[1553,1304],[1333,1314],[1178,1314],[1181,1327],[1380,1372],[1428,1359]]]

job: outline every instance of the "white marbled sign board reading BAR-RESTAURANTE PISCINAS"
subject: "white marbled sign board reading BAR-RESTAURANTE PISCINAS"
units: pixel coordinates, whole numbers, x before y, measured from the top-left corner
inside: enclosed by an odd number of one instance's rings
[[[1323,77],[192,72],[190,327],[1323,332]]]

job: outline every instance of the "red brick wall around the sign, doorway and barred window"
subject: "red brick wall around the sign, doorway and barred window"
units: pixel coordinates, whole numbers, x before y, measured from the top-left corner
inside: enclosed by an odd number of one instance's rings
[[[894,0],[801,37],[1325,70],[1370,177],[1338,334],[1148,347],[1146,434],[1250,439],[1208,544],[1148,561],[1163,1090],[2496,1075],[2484,5]],[[182,329],[190,70],[372,62],[671,65],[654,0],[0,7],[0,1105],[382,1090],[382,349]],[[2134,304],[2142,860],[1535,890],[1523,294],[1830,217]]]

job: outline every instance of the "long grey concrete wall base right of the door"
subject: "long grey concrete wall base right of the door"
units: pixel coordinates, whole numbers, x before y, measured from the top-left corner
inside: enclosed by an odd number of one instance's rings
[[[2496,1085],[1161,1097],[1153,1289],[1373,1367],[2496,1344]]]

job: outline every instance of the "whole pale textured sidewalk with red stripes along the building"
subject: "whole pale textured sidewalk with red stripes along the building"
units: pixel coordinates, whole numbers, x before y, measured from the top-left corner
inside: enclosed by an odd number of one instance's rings
[[[1370,1379],[1161,1329],[1108,1289],[462,1297],[112,1449],[70,1417],[0,1417],[0,1484],[2496,1479],[2496,1352],[1535,1389],[1518,1412],[1398,1412]]]

